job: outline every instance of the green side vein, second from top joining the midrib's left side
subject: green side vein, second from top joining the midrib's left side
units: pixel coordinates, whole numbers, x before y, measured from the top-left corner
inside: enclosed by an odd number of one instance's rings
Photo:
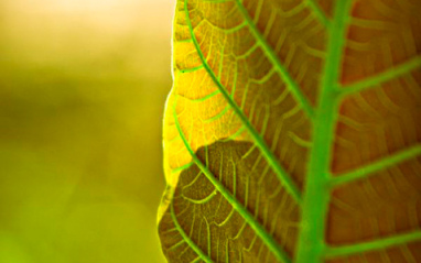
[[[295,97],[295,99],[301,103],[303,107],[303,110],[305,113],[310,117],[314,117],[314,111],[305,96],[301,92],[299,85],[295,83],[295,80],[291,77],[287,68],[282,65],[281,61],[279,59],[278,55],[274,53],[273,48],[270,46],[270,44],[265,40],[265,37],[261,35],[259,29],[252,21],[251,17],[249,15],[247,9],[242,6],[240,0],[236,0],[236,3],[238,6],[238,9],[242,13],[245,20],[247,21],[250,32],[256,37],[257,42],[261,45],[266,54],[268,55],[268,58],[270,62],[274,65],[279,74],[281,75],[283,81],[285,81],[287,87],[290,89],[291,94]]]

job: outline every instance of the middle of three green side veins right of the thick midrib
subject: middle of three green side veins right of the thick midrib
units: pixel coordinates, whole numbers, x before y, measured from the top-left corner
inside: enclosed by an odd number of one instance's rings
[[[335,187],[353,180],[365,178],[369,175],[375,174],[376,172],[387,169],[388,167],[395,166],[410,158],[414,158],[418,155],[421,155],[421,144],[402,150],[373,164],[357,168],[356,171],[337,175],[331,178],[331,182],[328,184],[331,187]]]

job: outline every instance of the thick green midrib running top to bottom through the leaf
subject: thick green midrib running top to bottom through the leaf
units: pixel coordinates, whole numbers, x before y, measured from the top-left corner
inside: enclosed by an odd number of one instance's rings
[[[325,248],[325,216],[330,200],[326,183],[332,161],[332,142],[338,107],[335,86],[339,76],[349,9],[350,0],[336,1],[334,21],[328,31],[327,57],[303,196],[298,263],[322,262]]]

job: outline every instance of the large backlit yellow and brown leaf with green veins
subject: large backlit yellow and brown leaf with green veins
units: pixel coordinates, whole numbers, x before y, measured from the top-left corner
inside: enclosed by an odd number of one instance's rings
[[[421,3],[179,0],[169,262],[421,262]]]

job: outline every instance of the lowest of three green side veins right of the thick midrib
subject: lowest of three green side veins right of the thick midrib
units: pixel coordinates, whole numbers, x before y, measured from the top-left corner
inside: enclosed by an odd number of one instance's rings
[[[363,253],[373,250],[386,249],[389,246],[397,246],[421,240],[421,230],[417,230],[412,233],[398,234],[390,238],[378,239],[374,241],[344,245],[344,246],[331,246],[326,248],[325,257],[345,256],[356,253]]]

